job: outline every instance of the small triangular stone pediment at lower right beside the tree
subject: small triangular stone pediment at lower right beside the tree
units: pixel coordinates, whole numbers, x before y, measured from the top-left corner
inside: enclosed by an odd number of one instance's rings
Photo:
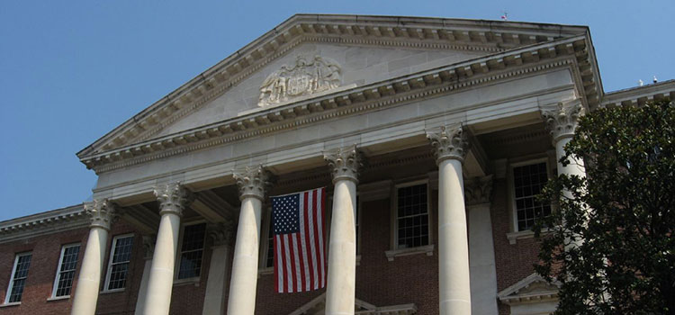
[[[532,274],[509,286],[497,294],[501,302],[509,305],[555,301],[558,298],[560,283],[547,282],[541,275]]]

